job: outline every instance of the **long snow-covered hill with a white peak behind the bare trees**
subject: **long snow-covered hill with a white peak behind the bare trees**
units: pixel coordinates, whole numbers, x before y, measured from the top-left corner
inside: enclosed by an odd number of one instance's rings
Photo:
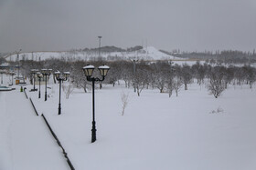
[[[99,52],[87,51],[87,52],[28,52],[21,53],[17,58],[17,55],[9,55],[5,57],[7,61],[17,60],[46,60],[49,58],[57,59],[75,59],[75,60],[91,60],[99,58]],[[101,58],[105,60],[120,60],[120,59],[144,59],[144,60],[170,60],[170,59],[181,59],[173,55],[166,55],[160,52],[154,46],[144,47],[141,50],[133,52],[101,52]]]

